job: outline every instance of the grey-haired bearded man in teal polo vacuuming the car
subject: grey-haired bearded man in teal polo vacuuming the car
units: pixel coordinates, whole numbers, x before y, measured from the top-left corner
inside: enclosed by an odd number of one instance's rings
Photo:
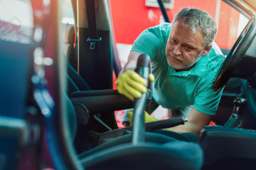
[[[224,56],[213,42],[217,25],[203,10],[183,8],[172,24],[161,23],[143,31],[135,40],[128,62],[117,78],[118,92],[130,100],[147,92],[146,82],[136,74],[136,60],[141,53],[150,56],[153,99],[161,106],[180,110],[188,117],[184,125],[168,130],[194,133],[208,125],[220,102],[222,90],[211,89]],[[185,113],[184,111],[188,111]],[[132,112],[128,113],[132,117]],[[145,113],[147,122],[156,121]],[[132,118],[129,120],[132,123]]]

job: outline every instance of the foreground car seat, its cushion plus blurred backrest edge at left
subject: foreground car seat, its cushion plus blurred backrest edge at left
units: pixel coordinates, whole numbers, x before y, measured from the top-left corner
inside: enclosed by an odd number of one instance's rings
[[[69,128],[76,130],[76,114],[66,95]],[[132,135],[109,140],[79,155],[85,169],[200,169],[203,151],[192,142],[179,141],[162,134],[146,132],[145,140],[133,145]]]

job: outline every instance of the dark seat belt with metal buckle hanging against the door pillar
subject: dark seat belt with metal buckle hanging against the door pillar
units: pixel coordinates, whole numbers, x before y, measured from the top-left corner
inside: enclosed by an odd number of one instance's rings
[[[101,37],[98,37],[94,0],[86,0],[86,13],[89,29],[89,37],[87,38],[87,42],[90,42],[89,49],[94,50],[95,46],[97,46],[97,51],[100,52],[99,42],[101,40]]]

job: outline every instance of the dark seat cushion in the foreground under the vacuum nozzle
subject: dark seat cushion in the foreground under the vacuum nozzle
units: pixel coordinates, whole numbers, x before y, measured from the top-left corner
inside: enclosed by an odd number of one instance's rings
[[[165,144],[121,144],[82,158],[85,169],[200,169],[203,151],[199,145],[172,141]]]

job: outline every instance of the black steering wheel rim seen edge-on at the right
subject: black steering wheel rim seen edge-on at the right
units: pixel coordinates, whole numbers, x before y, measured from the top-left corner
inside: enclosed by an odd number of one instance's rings
[[[252,16],[248,21],[243,31],[240,33],[238,39],[235,41],[231,50],[229,51],[222,67],[219,69],[213,83],[213,89],[219,91],[225,86],[229,78],[232,77],[235,69],[242,61],[246,51],[250,47],[252,40],[256,34],[256,15]]]

